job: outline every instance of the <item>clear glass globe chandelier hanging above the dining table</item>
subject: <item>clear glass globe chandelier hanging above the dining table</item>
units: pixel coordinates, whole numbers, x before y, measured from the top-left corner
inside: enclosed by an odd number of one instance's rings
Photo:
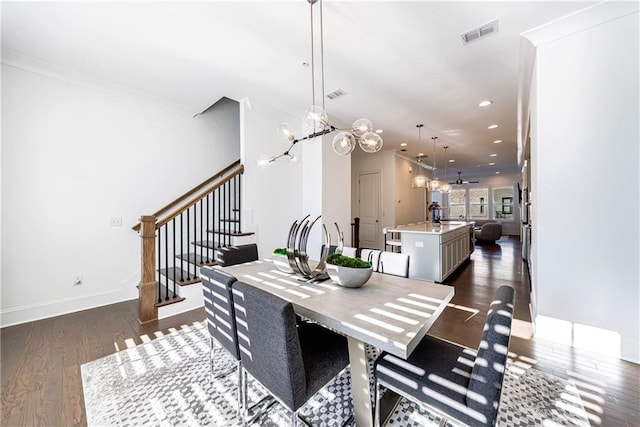
[[[296,162],[297,157],[291,153],[291,149],[302,141],[313,141],[315,138],[337,132],[331,146],[333,151],[340,155],[346,156],[351,154],[356,148],[366,153],[376,153],[382,149],[383,140],[378,133],[374,132],[373,123],[369,119],[360,118],[353,122],[350,129],[339,129],[329,123],[329,116],[325,109],[324,98],[324,40],[323,40],[323,21],[322,21],[322,0],[307,0],[309,2],[310,18],[311,18],[311,106],[307,110],[302,120],[302,132],[306,134],[302,137],[296,137],[288,123],[282,123],[278,127],[278,133],[289,141],[289,147],[277,156],[270,156],[258,161],[259,166],[266,166],[274,163],[280,158],[286,158],[290,162]],[[313,6],[318,3],[320,7],[320,82],[321,82],[321,105],[316,104],[316,63],[314,55],[314,38],[315,28],[313,19]]]

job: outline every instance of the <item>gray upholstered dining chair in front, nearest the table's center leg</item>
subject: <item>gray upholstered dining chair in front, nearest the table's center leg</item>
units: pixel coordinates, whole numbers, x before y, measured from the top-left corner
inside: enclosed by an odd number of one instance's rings
[[[249,373],[296,425],[300,407],[348,365],[347,339],[314,323],[297,324],[290,302],[241,281],[233,298],[245,389]]]

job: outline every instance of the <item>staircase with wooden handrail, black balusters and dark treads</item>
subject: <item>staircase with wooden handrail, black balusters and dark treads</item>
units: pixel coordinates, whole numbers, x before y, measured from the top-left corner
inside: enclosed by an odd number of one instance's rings
[[[242,231],[241,190],[244,167],[236,161],[152,215],[133,229],[142,238],[139,320],[202,305],[200,267],[215,265],[217,248],[246,243]],[[182,303],[182,307],[163,308]],[[166,317],[165,315],[161,317]]]

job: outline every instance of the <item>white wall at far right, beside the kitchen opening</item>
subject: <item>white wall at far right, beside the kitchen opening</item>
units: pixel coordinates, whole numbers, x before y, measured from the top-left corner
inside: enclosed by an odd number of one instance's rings
[[[531,157],[536,335],[635,362],[638,22],[637,3],[613,2],[555,23],[553,37],[531,35],[537,45]]]

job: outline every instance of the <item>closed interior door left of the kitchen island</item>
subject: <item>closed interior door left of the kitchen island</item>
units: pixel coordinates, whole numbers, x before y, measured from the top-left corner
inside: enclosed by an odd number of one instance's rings
[[[360,247],[380,249],[380,172],[358,174]]]

